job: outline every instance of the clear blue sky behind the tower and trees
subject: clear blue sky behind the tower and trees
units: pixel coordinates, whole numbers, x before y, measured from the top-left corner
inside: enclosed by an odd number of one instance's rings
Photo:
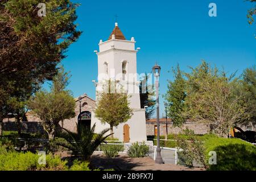
[[[172,80],[171,67],[177,63],[183,71],[196,67],[201,59],[224,67],[229,73],[256,63],[255,24],[247,23],[247,10],[254,6],[244,0],[196,1],[73,1],[81,3],[77,9],[77,23],[83,31],[80,39],[69,47],[68,57],[62,61],[71,72],[68,89],[73,96],[87,93],[95,98],[92,80],[97,80],[97,56],[100,39],[108,39],[114,28],[115,14],[118,26],[126,39],[134,36],[138,73],[151,72],[157,61],[162,67],[160,94]],[[208,15],[209,3],[217,5],[217,17]],[[160,116],[164,111],[160,98]]]

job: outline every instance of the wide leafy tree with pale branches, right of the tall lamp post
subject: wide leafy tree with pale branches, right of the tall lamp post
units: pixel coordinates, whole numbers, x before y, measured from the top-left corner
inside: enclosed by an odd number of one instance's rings
[[[205,61],[191,69],[191,73],[185,74],[188,78],[187,117],[207,123],[221,137],[228,136],[230,127],[247,118],[243,93],[234,94],[234,82],[225,72],[211,68]]]

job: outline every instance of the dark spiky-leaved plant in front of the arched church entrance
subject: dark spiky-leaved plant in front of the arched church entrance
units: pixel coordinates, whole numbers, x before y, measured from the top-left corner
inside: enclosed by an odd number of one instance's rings
[[[72,140],[65,138],[64,141],[55,139],[55,144],[63,146],[72,151],[75,156],[80,156],[82,160],[89,160],[90,156],[96,150],[96,148],[102,143],[106,143],[105,139],[110,135],[105,135],[110,129],[102,130],[101,133],[95,134],[96,124],[94,123],[92,129],[86,126],[77,127],[77,133],[73,133],[67,129],[64,129],[69,134]]]

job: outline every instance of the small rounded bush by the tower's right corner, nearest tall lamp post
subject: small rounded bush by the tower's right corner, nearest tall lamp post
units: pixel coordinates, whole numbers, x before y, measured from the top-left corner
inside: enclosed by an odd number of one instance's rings
[[[139,144],[138,142],[136,142],[130,146],[127,154],[131,158],[143,158],[148,154],[148,151],[149,151],[149,147],[146,144],[144,144],[144,142],[142,144]]]

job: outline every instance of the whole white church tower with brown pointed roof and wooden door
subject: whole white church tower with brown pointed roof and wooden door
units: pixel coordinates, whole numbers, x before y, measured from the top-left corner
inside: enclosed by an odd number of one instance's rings
[[[141,109],[139,97],[139,81],[137,76],[137,52],[135,39],[127,40],[122,31],[115,23],[114,30],[108,40],[100,40],[98,56],[98,82],[96,83],[97,93],[103,91],[106,81],[112,80],[122,88],[122,92],[129,94],[130,107],[133,109],[133,116],[126,123],[121,123],[114,128],[114,137],[125,142],[146,141],[146,118],[145,110]],[[94,114],[93,114],[94,115]],[[95,118],[97,120],[97,118]],[[97,122],[98,123],[98,122]],[[96,123],[96,127],[97,127]],[[129,131],[127,131],[129,130]],[[129,133],[129,137],[125,136]],[[126,139],[125,139],[126,138]]]

